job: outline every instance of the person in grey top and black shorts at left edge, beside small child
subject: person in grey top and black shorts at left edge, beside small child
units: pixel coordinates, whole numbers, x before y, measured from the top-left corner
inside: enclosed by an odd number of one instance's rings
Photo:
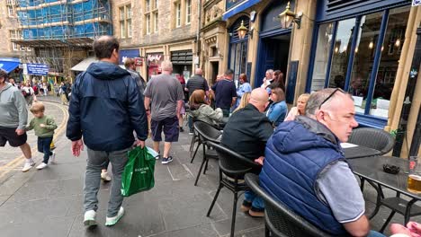
[[[26,143],[25,132],[28,122],[28,110],[22,92],[10,83],[6,83],[7,73],[0,69],[0,147],[6,142],[13,147],[20,147],[26,161],[22,171],[31,170],[35,164],[32,160],[31,147]]]

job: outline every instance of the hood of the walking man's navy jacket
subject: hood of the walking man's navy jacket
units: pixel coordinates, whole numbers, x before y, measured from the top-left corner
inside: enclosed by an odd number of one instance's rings
[[[93,75],[94,78],[100,80],[114,80],[116,78],[130,75],[127,70],[122,69],[120,66],[102,61],[92,63],[90,66],[88,66],[86,72],[90,75]]]

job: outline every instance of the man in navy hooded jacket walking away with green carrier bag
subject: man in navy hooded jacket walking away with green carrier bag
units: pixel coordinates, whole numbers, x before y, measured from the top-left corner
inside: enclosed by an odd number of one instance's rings
[[[96,224],[97,193],[101,170],[112,162],[112,188],[105,225],[116,224],[124,214],[121,206],[121,173],[133,143],[143,147],[148,138],[146,111],[136,82],[120,66],[119,42],[112,36],[94,41],[95,56],[100,60],[77,76],[69,105],[67,138],[72,152],[79,156],[84,137],[87,146],[85,171],[86,226]],[[136,131],[137,139],[133,137]]]

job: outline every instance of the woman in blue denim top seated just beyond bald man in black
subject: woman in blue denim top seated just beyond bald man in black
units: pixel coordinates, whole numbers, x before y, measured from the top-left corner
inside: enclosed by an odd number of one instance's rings
[[[273,127],[278,127],[288,112],[288,107],[285,102],[285,93],[283,93],[281,88],[275,87],[272,89],[270,97],[273,103],[269,106],[266,116],[273,123]]]

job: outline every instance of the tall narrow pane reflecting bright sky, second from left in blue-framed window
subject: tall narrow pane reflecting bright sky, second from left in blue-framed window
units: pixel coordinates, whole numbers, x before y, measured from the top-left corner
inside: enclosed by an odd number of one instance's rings
[[[355,28],[355,18],[338,22],[328,87],[345,88],[346,69]]]

